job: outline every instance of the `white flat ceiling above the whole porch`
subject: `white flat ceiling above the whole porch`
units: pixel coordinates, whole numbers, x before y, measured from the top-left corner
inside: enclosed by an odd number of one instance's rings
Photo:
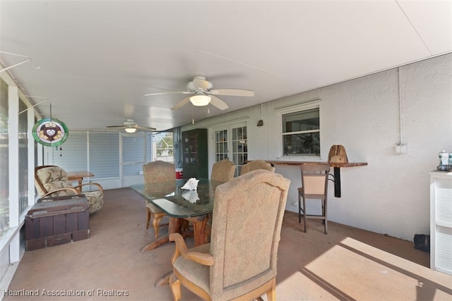
[[[452,1],[6,1],[0,51],[42,117],[167,130],[452,51]],[[24,58],[0,54],[11,66]],[[40,67],[39,69],[35,67]],[[194,75],[230,108],[170,108]]]

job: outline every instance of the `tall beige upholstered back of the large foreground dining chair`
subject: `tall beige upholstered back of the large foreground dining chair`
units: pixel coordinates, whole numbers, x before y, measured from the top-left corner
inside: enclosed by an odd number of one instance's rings
[[[276,276],[290,180],[256,170],[219,185],[213,205],[210,297],[231,300]]]

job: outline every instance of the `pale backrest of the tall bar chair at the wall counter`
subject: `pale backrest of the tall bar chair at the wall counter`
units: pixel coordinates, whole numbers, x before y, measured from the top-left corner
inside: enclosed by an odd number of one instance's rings
[[[325,199],[330,164],[302,164],[302,188],[307,199]]]

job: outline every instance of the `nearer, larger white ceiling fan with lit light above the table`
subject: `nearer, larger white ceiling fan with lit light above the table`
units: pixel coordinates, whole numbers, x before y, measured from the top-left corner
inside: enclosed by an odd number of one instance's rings
[[[206,76],[196,75],[193,80],[186,84],[186,91],[179,92],[161,92],[161,93],[151,93],[145,94],[145,96],[163,95],[163,94],[191,94],[191,96],[182,99],[172,110],[177,110],[191,102],[194,106],[207,106],[208,104],[213,104],[220,110],[225,110],[229,106],[223,102],[221,99],[215,95],[225,95],[225,96],[254,96],[253,90],[242,90],[242,89],[213,89],[212,82],[209,82]]]

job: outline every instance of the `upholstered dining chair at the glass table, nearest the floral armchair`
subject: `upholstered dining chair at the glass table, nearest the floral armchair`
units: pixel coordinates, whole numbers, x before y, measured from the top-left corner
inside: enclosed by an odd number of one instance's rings
[[[160,182],[174,182],[176,181],[176,169],[174,164],[161,160],[149,162],[143,165],[144,183],[160,183]],[[158,237],[158,229],[160,221],[166,216],[165,212],[155,207],[150,202],[146,202],[146,211],[148,213],[148,219],[146,221],[146,229],[149,228],[150,216],[153,216],[153,228],[155,238]],[[166,224],[165,224],[166,225]]]

